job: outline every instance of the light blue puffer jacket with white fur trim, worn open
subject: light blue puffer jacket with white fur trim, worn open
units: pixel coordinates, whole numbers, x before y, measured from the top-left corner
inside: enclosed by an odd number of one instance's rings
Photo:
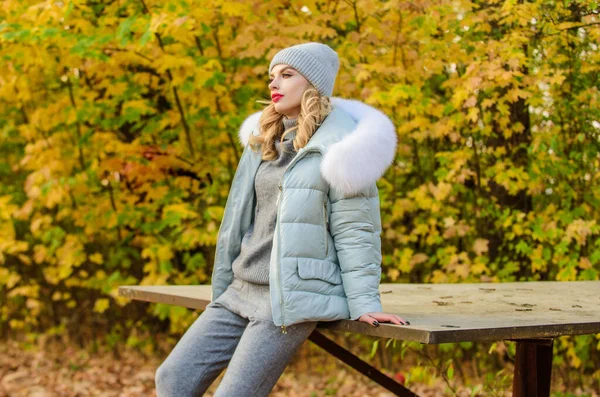
[[[356,320],[381,312],[381,218],[376,181],[395,157],[391,120],[358,100],[332,97],[333,109],[285,169],[269,269],[273,322]],[[239,130],[244,146],[223,220],[212,273],[212,299],[231,283],[231,264],[254,218],[254,176],[261,112]]]

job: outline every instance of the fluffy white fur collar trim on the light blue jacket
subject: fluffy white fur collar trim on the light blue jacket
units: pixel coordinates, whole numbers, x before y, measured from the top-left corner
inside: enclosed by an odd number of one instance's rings
[[[396,155],[397,136],[392,121],[383,112],[359,100],[331,97],[334,107],[354,121],[354,130],[332,143],[321,161],[321,175],[346,194],[359,192],[377,181]],[[244,146],[258,127],[262,111],[246,118],[238,137]]]

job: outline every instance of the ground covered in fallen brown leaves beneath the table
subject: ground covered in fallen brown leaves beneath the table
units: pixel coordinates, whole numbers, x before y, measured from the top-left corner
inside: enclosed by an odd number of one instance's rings
[[[74,344],[48,343],[23,350],[13,341],[0,342],[0,397],[156,396],[154,373],[164,357],[148,357],[133,349],[123,349],[119,355],[115,358],[110,351],[90,354]],[[206,396],[212,396],[220,378]],[[471,389],[461,387],[454,394],[441,380],[410,388],[424,397],[510,395],[509,391],[472,394]],[[271,396],[391,397],[393,394],[306,342]]]

